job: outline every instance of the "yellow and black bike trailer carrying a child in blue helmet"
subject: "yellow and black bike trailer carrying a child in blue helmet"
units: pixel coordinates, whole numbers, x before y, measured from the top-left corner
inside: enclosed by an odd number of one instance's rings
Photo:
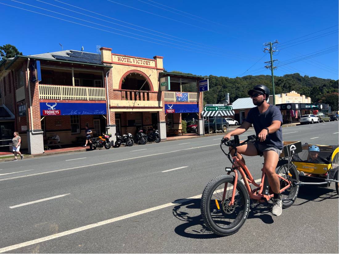
[[[309,148],[315,148],[319,152],[312,156]],[[299,172],[298,185],[326,185],[335,183],[338,194],[338,146],[302,145],[302,151],[292,156],[292,163]]]

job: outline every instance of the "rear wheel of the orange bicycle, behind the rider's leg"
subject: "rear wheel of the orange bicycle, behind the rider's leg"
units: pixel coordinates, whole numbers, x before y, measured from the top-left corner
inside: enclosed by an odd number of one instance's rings
[[[291,187],[284,190],[280,193],[280,197],[282,200],[282,208],[288,208],[292,206],[294,201],[296,200],[299,192],[299,185],[295,183],[299,182],[299,175],[294,164],[290,164],[290,168],[288,168],[288,164],[278,166],[276,168],[276,173],[280,174],[285,179],[291,179]],[[292,176],[290,176],[290,173]],[[286,182],[279,178],[280,181],[280,189],[286,186]]]

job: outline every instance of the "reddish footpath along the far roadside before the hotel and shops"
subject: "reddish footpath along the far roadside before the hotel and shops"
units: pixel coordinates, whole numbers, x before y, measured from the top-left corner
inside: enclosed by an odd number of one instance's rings
[[[300,123],[283,124],[282,127],[292,127],[292,126],[296,126],[296,125],[300,125]],[[237,127],[239,127],[239,126],[230,126],[228,131],[232,131],[232,130],[236,129]],[[251,130],[251,129],[254,130],[253,127],[251,127],[249,130]],[[195,133],[186,133],[186,134],[179,135],[179,136],[167,137],[166,140],[161,140],[161,142],[168,142],[168,141],[174,141],[174,140],[197,139],[197,138],[203,138],[203,137],[209,137],[209,136],[216,136],[216,135],[220,135],[220,134],[222,134],[222,133],[218,132],[218,133],[205,134],[203,136],[198,136]],[[90,151],[90,149],[82,147],[82,146],[67,147],[67,148],[60,148],[60,149],[51,149],[51,150],[45,150],[44,153],[41,153],[41,154],[34,154],[34,155],[24,154],[24,159],[25,158],[39,157],[39,156],[49,156],[49,155],[76,153],[76,152],[85,152],[85,151]],[[12,152],[0,152],[0,162],[1,161],[12,161],[13,159],[14,159],[14,154]],[[20,158],[19,158],[19,160],[20,160]]]

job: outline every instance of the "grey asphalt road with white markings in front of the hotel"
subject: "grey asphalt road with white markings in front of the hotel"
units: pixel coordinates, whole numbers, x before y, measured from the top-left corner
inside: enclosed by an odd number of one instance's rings
[[[234,235],[207,231],[199,195],[230,166],[221,137],[0,163],[0,252],[338,253],[334,184],[301,187],[279,217],[253,204]],[[338,122],[283,128],[283,139],[338,145]],[[263,158],[246,163],[259,179]]]

